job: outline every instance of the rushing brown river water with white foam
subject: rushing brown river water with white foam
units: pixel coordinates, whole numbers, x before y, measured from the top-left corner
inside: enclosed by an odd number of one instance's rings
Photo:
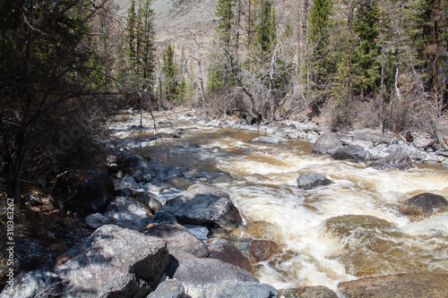
[[[147,147],[145,154],[196,177],[189,184],[203,183],[200,177],[216,171],[237,177],[213,186],[230,194],[247,223],[271,224],[263,238],[279,243],[281,253],[256,264],[261,282],[335,289],[358,277],[448,273],[448,212],[417,221],[400,212],[404,200],[421,192],[448,198],[446,169],[378,171],[311,154],[312,145],[303,140],[252,143],[260,133],[157,121],[160,131],[185,130],[180,139]],[[297,176],[306,173],[322,174],[332,183],[300,190]]]

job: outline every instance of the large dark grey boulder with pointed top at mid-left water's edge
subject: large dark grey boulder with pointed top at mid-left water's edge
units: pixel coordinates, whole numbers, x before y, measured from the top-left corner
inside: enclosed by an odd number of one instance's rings
[[[209,193],[178,194],[159,210],[171,213],[179,223],[187,225],[235,229],[243,221],[230,199]]]

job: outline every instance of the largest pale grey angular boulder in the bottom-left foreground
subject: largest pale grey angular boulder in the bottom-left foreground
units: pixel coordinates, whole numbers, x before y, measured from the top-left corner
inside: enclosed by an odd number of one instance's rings
[[[64,297],[145,297],[168,263],[165,241],[119,226],[101,226],[59,257]]]

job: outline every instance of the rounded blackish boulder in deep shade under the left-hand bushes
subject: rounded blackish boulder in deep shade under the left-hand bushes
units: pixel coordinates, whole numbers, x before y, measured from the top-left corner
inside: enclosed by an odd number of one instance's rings
[[[56,176],[50,203],[56,209],[86,217],[103,212],[114,191],[114,183],[108,175],[94,171],[67,171]]]

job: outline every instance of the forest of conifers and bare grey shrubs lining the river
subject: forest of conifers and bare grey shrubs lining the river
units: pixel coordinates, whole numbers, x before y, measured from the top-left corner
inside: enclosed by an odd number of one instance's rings
[[[188,1],[188,0],[186,0]],[[247,123],[437,132],[448,101],[448,3],[218,0],[194,49],[157,47],[151,0],[0,3],[1,192],[94,163],[116,111],[187,106]],[[281,21],[280,21],[281,20]],[[190,53],[191,52],[191,53]],[[186,64],[193,61],[193,64]],[[442,129],[442,127],[439,127]]]

